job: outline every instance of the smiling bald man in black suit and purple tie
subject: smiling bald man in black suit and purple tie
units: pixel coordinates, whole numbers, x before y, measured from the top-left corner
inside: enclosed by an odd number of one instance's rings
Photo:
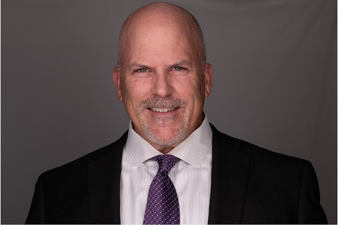
[[[213,72],[189,12],[164,2],[133,12],[118,64],[128,132],[43,173],[27,224],[327,223],[310,162],[208,123],[202,110]]]

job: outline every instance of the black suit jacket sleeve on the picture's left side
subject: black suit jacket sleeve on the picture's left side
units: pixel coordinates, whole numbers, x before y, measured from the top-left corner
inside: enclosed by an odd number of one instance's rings
[[[30,205],[28,217],[25,224],[45,224],[45,194],[44,181],[41,174],[35,184],[32,204]]]

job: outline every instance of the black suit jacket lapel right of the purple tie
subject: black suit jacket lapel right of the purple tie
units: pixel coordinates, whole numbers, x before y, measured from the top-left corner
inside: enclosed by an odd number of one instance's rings
[[[240,224],[249,157],[238,152],[241,142],[213,130],[213,159],[208,224]]]

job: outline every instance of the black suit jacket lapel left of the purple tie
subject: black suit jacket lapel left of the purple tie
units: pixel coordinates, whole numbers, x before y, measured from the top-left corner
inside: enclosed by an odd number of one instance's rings
[[[102,148],[100,159],[88,165],[88,202],[92,224],[121,224],[121,162],[127,134]]]

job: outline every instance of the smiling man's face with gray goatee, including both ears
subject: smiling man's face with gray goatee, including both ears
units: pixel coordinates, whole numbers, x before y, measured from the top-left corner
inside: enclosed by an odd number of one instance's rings
[[[156,22],[127,31],[121,74],[114,69],[114,82],[134,130],[161,151],[202,123],[212,70],[201,66],[189,32]]]

